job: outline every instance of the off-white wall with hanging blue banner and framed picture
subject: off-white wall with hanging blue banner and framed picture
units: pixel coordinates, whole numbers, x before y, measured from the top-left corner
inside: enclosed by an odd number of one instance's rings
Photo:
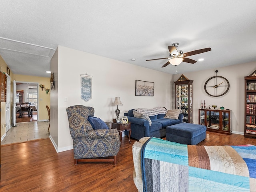
[[[93,76],[92,99],[88,102],[80,98],[80,74],[85,73]],[[58,91],[58,111],[53,113],[58,113],[58,118],[56,114],[52,116],[51,109],[51,134],[52,129],[57,129],[55,126],[58,126],[58,137],[53,139],[58,152],[72,148],[66,114],[69,106],[92,106],[95,116],[104,121],[116,118],[116,106],[112,106],[116,96],[124,104],[118,106],[120,116],[132,108],[171,108],[170,87],[173,79],[167,73],[59,46],[57,76],[55,78],[58,78],[58,90],[55,91]],[[154,82],[154,96],[135,96],[135,80]],[[55,93],[51,92],[51,108],[52,94]],[[68,98],[67,102],[64,102],[64,97]]]

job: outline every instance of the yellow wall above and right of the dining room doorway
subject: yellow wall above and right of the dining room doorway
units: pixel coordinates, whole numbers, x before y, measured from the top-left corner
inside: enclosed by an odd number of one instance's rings
[[[28,76],[28,75],[13,75],[14,80],[18,82],[33,82],[43,84],[44,88],[50,89],[50,77],[38,77],[38,76]],[[13,84],[13,80],[12,80]],[[50,92],[46,94],[45,90],[41,90],[39,87],[39,94],[38,94],[38,121],[40,120],[47,120],[48,119],[48,113],[46,110],[46,105],[50,107]]]

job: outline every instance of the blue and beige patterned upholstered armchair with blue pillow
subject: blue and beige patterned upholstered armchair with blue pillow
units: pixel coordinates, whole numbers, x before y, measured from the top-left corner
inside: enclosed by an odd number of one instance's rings
[[[114,162],[115,165],[120,148],[118,130],[110,129],[103,121],[104,125],[91,124],[88,119],[99,119],[93,117],[94,108],[92,107],[75,105],[66,108],[66,112],[73,139],[75,165],[81,161],[108,161]]]

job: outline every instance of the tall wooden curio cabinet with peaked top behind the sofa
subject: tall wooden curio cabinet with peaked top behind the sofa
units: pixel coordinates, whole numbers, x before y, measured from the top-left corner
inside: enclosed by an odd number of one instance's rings
[[[180,109],[184,115],[183,122],[192,123],[192,83],[184,75],[174,82],[175,84],[175,108]]]

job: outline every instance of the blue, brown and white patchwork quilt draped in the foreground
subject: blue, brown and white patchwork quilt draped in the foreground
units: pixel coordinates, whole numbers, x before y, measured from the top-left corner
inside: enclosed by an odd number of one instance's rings
[[[196,146],[150,138],[141,150],[144,192],[255,192],[256,146]]]

